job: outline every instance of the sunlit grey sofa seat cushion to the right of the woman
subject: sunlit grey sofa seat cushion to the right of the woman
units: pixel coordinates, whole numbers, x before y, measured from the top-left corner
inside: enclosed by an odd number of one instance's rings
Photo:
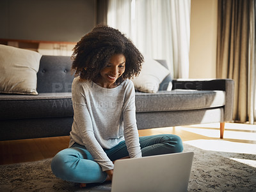
[[[196,110],[225,105],[225,91],[173,90],[136,92],[136,112]]]

